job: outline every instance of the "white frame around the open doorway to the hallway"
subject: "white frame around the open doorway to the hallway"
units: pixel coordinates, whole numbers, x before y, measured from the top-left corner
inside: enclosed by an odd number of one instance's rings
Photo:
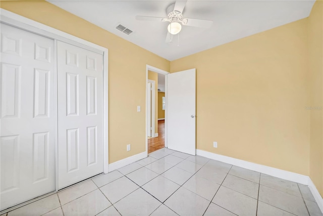
[[[162,74],[165,75],[165,147],[167,147],[167,75],[170,74],[169,72],[159,69],[157,67],[151,66],[149,64],[146,64],[146,83],[148,83],[148,70],[158,73],[158,74]],[[156,84],[158,85],[158,84]],[[147,85],[146,85],[146,127],[145,127],[145,131],[146,131],[146,155],[148,155],[148,138],[147,138]],[[154,125],[153,125],[154,128]],[[154,130],[153,130],[154,132]]]

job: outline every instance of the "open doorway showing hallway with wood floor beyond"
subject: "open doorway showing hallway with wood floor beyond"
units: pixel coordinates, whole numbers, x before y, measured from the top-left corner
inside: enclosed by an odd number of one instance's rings
[[[167,147],[167,71],[146,66],[146,152]]]

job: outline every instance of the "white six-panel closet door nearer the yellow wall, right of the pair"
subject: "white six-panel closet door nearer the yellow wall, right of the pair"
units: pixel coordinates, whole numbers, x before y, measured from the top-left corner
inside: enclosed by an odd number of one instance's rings
[[[57,46],[61,189],[103,172],[103,55],[61,41]]]

